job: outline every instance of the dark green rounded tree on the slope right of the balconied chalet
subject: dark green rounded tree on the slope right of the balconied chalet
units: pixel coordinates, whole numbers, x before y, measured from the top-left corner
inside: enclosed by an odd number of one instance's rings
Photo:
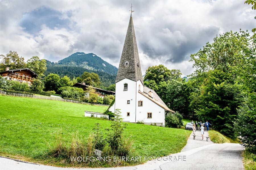
[[[45,86],[45,91],[51,91],[54,90],[57,92],[59,88],[59,75],[57,74],[49,74],[44,78],[44,86]]]

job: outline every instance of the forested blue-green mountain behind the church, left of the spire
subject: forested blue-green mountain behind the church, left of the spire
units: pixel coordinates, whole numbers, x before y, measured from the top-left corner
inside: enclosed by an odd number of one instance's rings
[[[47,76],[50,73],[58,74],[59,76],[73,77],[81,76],[85,71],[96,73],[99,75],[103,86],[108,87],[115,83],[117,67],[104,61],[93,53],[85,54],[84,52],[76,52],[67,58],[58,62],[46,60],[47,70],[44,73]]]

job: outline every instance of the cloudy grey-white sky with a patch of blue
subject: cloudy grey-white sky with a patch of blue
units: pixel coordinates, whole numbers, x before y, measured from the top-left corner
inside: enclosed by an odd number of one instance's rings
[[[0,54],[58,61],[85,52],[118,67],[131,3],[143,74],[164,64],[189,75],[190,54],[218,34],[256,24],[244,0],[0,0]]]

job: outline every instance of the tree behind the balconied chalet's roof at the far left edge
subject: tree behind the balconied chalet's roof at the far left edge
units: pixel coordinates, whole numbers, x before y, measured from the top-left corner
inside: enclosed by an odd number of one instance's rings
[[[1,54],[0,70],[5,71],[6,67],[10,69],[26,68],[26,63],[23,57],[20,57],[16,51],[10,51],[6,56]]]

